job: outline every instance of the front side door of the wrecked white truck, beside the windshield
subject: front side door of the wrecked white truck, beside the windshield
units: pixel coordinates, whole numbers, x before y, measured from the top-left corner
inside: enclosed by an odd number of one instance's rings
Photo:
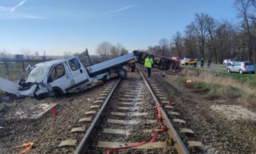
[[[57,64],[51,69],[47,77],[47,84],[48,87],[50,84],[51,88],[61,88],[64,93],[67,92],[67,89],[73,86],[71,82],[71,74],[69,74],[69,70],[65,63]]]

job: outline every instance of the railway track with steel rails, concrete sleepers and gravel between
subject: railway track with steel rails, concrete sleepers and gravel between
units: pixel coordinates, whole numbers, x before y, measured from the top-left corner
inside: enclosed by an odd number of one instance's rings
[[[79,119],[79,127],[71,130],[77,139],[62,141],[59,147],[73,147],[74,153],[189,153],[188,148],[202,147],[189,141],[193,131],[185,128],[174,112],[175,103],[158,87],[140,70],[109,84]]]

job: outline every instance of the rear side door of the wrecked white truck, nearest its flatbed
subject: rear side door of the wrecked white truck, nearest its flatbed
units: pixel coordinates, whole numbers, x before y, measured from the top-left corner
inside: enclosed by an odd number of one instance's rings
[[[86,84],[86,82],[89,82],[88,74],[77,58],[69,60],[68,65],[73,78],[74,87],[82,86]]]

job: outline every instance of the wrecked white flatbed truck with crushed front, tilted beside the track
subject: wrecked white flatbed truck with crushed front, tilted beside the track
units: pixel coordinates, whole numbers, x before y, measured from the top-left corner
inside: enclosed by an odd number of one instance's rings
[[[25,79],[23,74],[18,84],[0,78],[0,89],[17,96],[36,98],[65,94],[95,80],[109,80],[111,74],[125,78],[129,61],[133,59],[134,54],[131,53],[91,65],[86,50],[78,56],[36,64],[28,78]]]

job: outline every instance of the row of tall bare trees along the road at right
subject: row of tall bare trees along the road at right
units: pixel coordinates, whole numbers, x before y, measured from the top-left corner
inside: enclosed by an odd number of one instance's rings
[[[145,52],[180,58],[207,58],[216,63],[224,59],[256,62],[256,0],[234,0],[238,23],[218,21],[205,13],[196,13],[185,31],[177,31],[170,40],[162,38]]]

